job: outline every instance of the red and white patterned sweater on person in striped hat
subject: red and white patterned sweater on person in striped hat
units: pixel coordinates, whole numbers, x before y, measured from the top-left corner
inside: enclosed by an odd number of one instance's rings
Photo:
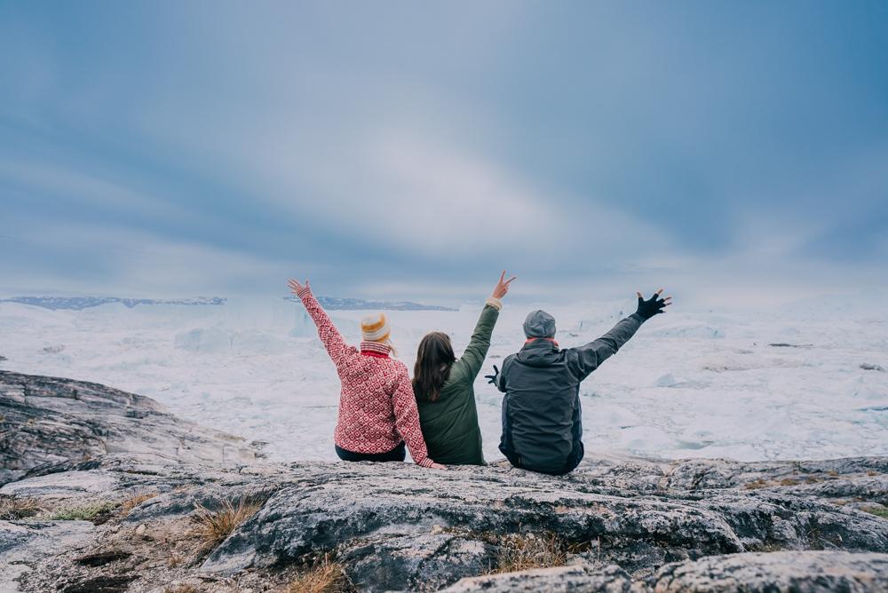
[[[413,461],[430,467],[432,460],[404,363],[389,358],[385,344],[361,342],[360,351],[345,344],[311,289],[302,289],[298,295],[318,326],[318,336],[342,382],[333,437],[336,444],[353,453],[385,453],[403,440]]]

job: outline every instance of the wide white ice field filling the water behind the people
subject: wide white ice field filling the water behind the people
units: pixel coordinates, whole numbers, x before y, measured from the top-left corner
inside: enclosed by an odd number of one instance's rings
[[[747,461],[888,455],[888,312],[875,306],[858,297],[766,314],[672,307],[583,383],[587,451]],[[389,312],[411,373],[426,331],[448,331],[462,352],[480,307]],[[519,349],[530,308],[506,301],[482,376]],[[567,347],[604,333],[634,304],[543,308]],[[364,314],[331,312],[352,344]],[[0,355],[3,369],[150,396],[175,414],[265,441],[276,461],[336,459],[339,383],[301,304],[0,304]],[[502,396],[482,377],[475,390],[485,455],[495,460]]]

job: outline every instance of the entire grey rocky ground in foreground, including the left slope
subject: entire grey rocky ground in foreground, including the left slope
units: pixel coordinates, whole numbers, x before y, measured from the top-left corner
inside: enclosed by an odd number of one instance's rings
[[[322,558],[366,591],[882,591],[888,579],[888,519],[879,516],[888,504],[885,458],[598,458],[563,478],[496,465],[261,463],[210,457],[210,446],[170,447],[170,432],[183,426],[222,438],[162,411],[131,429],[125,409],[150,410],[150,399],[61,379],[28,384],[44,390],[26,397],[32,410],[35,401],[67,397],[53,410],[56,423],[68,412],[84,425],[95,409],[118,410],[108,432],[120,431],[127,448],[68,455],[0,488],[0,504],[41,508],[0,521],[0,584],[24,591],[286,590]],[[83,385],[91,389],[85,400],[52,395]],[[0,406],[21,404],[4,389]],[[123,403],[103,403],[115,398]],[[52,461],[52,439],[31,438]],[[228,502],[250,511],[208,542],[196,509],[224,513]],[[484,576],[534,546],[556,566]]]

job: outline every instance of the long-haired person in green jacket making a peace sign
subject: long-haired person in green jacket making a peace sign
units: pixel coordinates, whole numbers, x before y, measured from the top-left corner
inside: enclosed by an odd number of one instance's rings
[[[426,334],[416,352],[413,391],[419,407],[425,446],[429,456],[446,465],[484,465],[481,430],[472,385],[490,347],[490,334],[503,307],[500,299],[509,292],[515,276],[500,274],[493,294],[485,302],[472,339],[456,360],[450,336],[440,331]]]

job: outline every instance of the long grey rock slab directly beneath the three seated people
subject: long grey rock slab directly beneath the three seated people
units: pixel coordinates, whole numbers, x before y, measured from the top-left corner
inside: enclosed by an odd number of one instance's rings
[[[769,491],[639,495],[625,486],[592,486],[583,470],[568,479],[409,465],[313,464],[291,471],[265,509],[214,551],[205,569],[233,573],[345,544],[352,565],[369,558],[387,574],[396,566],[405,571],[401,588],[433,578],[444,585],[489,565],[496,551],[490,534],[522,532],[558,534],[565,546],[638,575],[676,560],[765,548],[888,552],[884,520]],[[374,538],[380,531],[385,537]],[[435,550],[435,556],[416,550]],[[437,576],[424,572],[439,560]]]

